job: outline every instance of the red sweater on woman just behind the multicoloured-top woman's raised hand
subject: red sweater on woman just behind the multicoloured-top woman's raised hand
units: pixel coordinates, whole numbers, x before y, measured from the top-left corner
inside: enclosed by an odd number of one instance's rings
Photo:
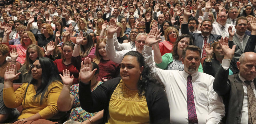
[[[63,62],[62,62],[62,59],[57,59],[55,61],[53,61],[54,64],[57,66],[58,68],[58,71],[59,71],[59,74],[62,75],[62,70],[66,70],[68,69],[69,72],[70,72],[70,75],[74,75],[74,82],[73,84],[77,84],[79,82],[78,80],[78,75],[79,75],[79,71],[74,65],[72,65],[72,63],[70,63],[69,65],[65,65]]]

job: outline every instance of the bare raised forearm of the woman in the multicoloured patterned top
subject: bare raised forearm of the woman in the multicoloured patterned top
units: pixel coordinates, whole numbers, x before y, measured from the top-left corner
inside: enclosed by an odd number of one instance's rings
[[[74,97],[70,95],[70,86],[63,85],[61,94],[59,95],[57,105],[60,111],[69,111],[72,108]],[[65,102],[63,102],[65,101]]]

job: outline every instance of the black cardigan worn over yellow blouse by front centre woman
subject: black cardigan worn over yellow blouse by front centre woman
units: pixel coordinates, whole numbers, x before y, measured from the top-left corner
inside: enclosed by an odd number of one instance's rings
[[[103,123],[108,121],[109,101],[121,78],[113,78],[91,92],[90,84],[79,82],[79,101],[82,109],[94,113],[104,109]],[[170,108],[163,88],[149,83],[146,91],[150,123],[170,123]]]

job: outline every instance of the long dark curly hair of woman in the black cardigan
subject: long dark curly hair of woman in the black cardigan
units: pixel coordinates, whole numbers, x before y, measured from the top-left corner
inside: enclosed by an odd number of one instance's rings
[[[126,55],[136,57],[137,61],[139,63],[139,67],[142,67],[142,66],[144,67],[144,69],[141,73],[142,80],[139,80],[139,82],[138,82],[139,97],[146,94],[147,86],[149,85],[149,83],[155,83],[155,84],[157,84],[160,87],[163,87],[165,89],[165,86],[163,85],[163,82],[160,81],[159,79],[155,78],[156,77],[155,73],[153,73],[153,71],[150,69],[149,65],[147,63],[145,63],[144,57],[142,56],[142,54],[140,54],[137,51],[129,51],[128,53],[126,53],[124,55],[124,57]]]

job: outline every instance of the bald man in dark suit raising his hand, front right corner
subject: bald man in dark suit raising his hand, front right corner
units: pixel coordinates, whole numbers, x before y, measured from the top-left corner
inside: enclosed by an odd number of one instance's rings
[[[227,39],[227,38],[226,38]],[[256,121],[256,53],[246,52],[237,62],[239,74],[229,75],[229,65],[235,51],[222,45],[224,58],[215,75],[213,89],[223,97],[226,124],[248,124]]]

